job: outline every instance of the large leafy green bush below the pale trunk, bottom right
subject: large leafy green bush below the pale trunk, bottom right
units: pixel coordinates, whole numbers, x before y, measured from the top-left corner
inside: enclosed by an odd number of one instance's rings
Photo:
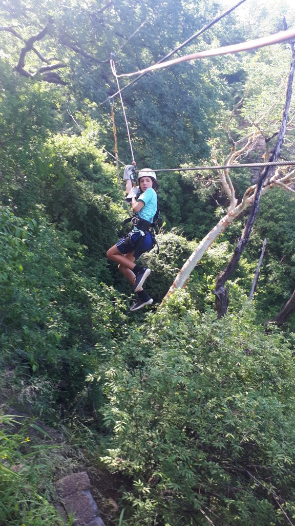
[[[292,517],[294,361],[254,318],[249,307],[200,316],[179,291],[118,348],[104,382],[114,438],[103,461],[133,480],[122,524],[206,524],[199,509],[245,526]]]

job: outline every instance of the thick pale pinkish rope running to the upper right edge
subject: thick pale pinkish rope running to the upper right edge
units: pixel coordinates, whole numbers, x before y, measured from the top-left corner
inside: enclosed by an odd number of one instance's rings
[[[197,58],[216,57],[220,55],[228,55],[230,53],[240,53],[242,51],[248,51],[250,49],[257,49],[259,47],[271,46],[273,44],[279,44],[292,40],[295,37],[295,28],[288,29],[288,31],[280,31],[275,35],[269,35],[267,37],[256,38],[248,42],[242,42],[240,44],[233,44],[230,46],[217,47],[214,49],[206,49],[198,53],[192,53],[191,55],[185,55],[183,57],[174,58],[173,60],[167,60],[163,64],[154,64],[153,66],[141,69],[140,71],[134,71],[133,73],[122,73],[118,75],[121,77],[132,77],[141,73],[148,73],[155,69],[162,69],[165,67],[173,66],[174,64],[180,64],[181,62],[188,62],[188,60],[195,60]]]

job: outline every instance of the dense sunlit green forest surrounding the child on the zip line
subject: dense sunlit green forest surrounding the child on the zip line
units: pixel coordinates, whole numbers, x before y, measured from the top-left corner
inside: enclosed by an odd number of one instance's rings
[[[226,213],[217,171],[159,172],[160,254],[142,258],[152,309],[130,312],[130,287],[106,259],[127,217],[110,155],[110,57],[118,74],[147,67],[228,7],[0,5],[1,526],[64,524],[55,482],[90,467],[106,526],[295,524],[294,309],[281,327],[268,323],[294,291],[294,193],[277,185],[261,197],[224,317],[214,311],[216,278],[248,210],[159,307]],[[179,53],[282,31],[283,16],[294,26],[289,3],[246,0]],[[291,59],[284,43],[161,69],[124,89],[137,166],[224,164],[253,134],[237,160],[267,159]],[[118,97],[113,104],[122,177],[132,158]],[[282,160],[295,159],[294,116],[292,97]],[[259,173],[230,176],[240,201]]]

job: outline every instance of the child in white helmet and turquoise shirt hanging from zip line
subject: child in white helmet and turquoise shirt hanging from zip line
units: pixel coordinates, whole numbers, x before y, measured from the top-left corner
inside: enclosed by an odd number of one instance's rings
[[[132,188],[130,179],[126,184],[126,190],[131,190],[127,199],[131,200],[135,213],[132,218],[133,229],[107,251],[107,257],[118,263],[119,271],[133,285],[134,292],[138,293],[138,300],[130,308],[132,311],[153,303],[153,299],[142,288],[151,270],[135,265],[134,261],[155,245],[152,223],[157,211],[156,192],[159,189],[156,174],[150,168],[139,172],[138,183],[139,188]]]

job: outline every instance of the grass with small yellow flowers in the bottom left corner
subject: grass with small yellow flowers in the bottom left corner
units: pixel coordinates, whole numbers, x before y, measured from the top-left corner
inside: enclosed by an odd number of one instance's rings
[[[50,466],[48,449],[56,453],[58,447],[31,444],[30,432],[37,428],[33,422],[23,423],[17,416],[3,415],[0,424],[0,523],[61,526],[62,521],[49,502],[54,493],[50,476],[57,466],[54,456]]]

